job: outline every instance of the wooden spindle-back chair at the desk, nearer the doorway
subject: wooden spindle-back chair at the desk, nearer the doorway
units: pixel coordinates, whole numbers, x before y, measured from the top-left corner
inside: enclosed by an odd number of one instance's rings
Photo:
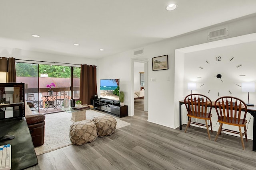
[[[202,94],[190,94],[185,97],[184,103],[186,105],[186,109],[188,111],[187,115],[189,117],[185,133],[188,127],[190,127],[190,123],[205,126],[207,129],[209,140],[211,140],[209,127],[211,128],[212,132],[212,101],[210,100],[210,98]],[[207,111],[207,109],[209,109],[209,111]],[[203,119],[205,120],[205,124],[192,121],[191,118]],[[210,125],[208,125],[207,120],[210,121]]]

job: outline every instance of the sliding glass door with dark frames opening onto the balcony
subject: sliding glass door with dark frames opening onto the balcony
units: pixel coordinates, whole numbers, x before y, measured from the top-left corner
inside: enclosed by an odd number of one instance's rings
[[[16,76],[26,84],[26,100],[34,101],[39,113],[62,111],[65,98],[80,97],[80,67],[16,63]]]

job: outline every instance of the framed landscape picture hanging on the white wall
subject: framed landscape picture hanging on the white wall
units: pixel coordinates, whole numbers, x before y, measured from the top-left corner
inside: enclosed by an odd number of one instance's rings
[[[153,71],[167,70],[168,68],[168,55],[152,58]]]

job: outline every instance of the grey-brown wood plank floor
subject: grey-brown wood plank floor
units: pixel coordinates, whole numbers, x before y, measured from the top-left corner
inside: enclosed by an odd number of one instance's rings
[[[147,122],[148,113],[136,100],[134,113],[120,118],[131,125],[111,136],[82,146],[70,145],[38,156],[29,170],[255,170],[252,141],[242,149],[239,137],[222,133],[209,141],[206,129],[190,127],[187,133]],[[171,114],[171,113],[170,113]]]

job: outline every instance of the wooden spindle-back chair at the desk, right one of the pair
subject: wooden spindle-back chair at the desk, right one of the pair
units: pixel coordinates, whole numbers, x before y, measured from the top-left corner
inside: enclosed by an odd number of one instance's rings
[[[247,120],[245,119],[247,113],[247,106],[244,103],[244,101],[240,100],[239,98],[231,96],[223,96],[218,98],[215,101],[214,105],[216,112],[218,114],[218,122],[220,123],[220,127],[218,129],[215,141],[217,140],[218,135],[221,134],[221,131],[239,134],[241,138],[242,147],[243,149],[245,149],[243,136],[245,135],[245,140],[247,142]],[[242,114],[242,112],[244,112],[244,114]],[[224,129],[222,128],[223,124],[238,126],[239,132],[230,129]],[[241,127],[244,127],[244,133],[242,133]]]

